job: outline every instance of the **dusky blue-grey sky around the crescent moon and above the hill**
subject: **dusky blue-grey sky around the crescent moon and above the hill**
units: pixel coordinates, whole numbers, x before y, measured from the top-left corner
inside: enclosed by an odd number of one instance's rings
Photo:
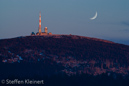
[[[0,0],[0,39],[38,32],[40,11],[42,31],[129,45],[129,0]]]

